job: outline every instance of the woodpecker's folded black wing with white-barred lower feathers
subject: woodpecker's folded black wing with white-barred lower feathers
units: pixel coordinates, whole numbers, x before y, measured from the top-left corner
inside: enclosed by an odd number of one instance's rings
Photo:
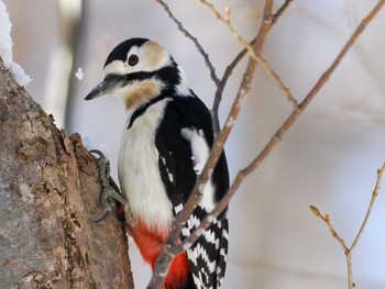
[[[211,116],[197,97],[178,97],[167,103],[161,122],[155,145],[158,151],[158,166],[174,214],[180,212],[197,179],[194,169],[194,155],[190,141],[183,135],[184,129],[200,132],[211,148],[213,134]],[[222,153],[212,175],[215,201],[221,199],[229,188],[229,173],[224,153]],[[182,233],[182,240],[190,235],[207,215],[198,205]],[[226,270],[228,252],[227,210],[188,249],[190,271],[196,288],[219,288]]]

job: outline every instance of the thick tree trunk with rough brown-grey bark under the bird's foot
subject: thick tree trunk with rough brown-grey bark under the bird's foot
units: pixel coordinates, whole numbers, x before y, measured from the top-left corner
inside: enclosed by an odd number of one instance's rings
[[[100,190],[80,136],[58,130],[0,58],[0,287],[133,288],[122,222],[90,222]]]

